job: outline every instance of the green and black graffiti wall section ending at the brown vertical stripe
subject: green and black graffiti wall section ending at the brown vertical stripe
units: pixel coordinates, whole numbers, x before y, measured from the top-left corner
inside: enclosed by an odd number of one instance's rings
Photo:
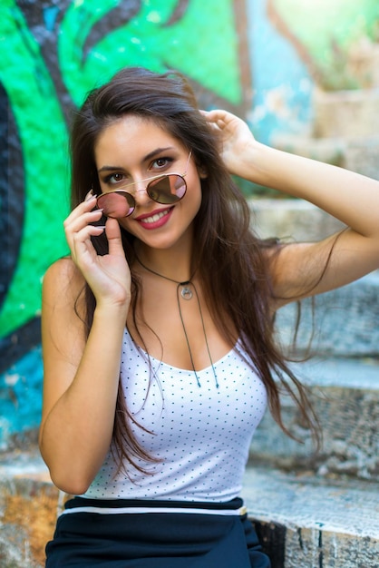
[[[70,113],[124,65],[176,68],[204,106],[244,113],[246,8],[233,0],[3,0],[0,441],[38,425],[41,282],[67,252]]]

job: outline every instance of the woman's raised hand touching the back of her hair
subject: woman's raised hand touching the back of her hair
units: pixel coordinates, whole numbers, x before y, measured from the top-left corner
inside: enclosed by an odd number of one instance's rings
[[[255,140],[248,124],[227,111],[201,111],[219,139],[219,152],[229,173],[251,178]]]

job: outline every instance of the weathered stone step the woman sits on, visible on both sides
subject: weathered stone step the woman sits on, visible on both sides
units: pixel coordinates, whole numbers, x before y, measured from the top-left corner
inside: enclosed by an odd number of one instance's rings
[[[243,498],[272,568],[377,568],[379,485],[248,466]],[[0,465],[0,566],[43,568],[65,495],[34,455]],[[210,568],[210,567],[209,567]]]

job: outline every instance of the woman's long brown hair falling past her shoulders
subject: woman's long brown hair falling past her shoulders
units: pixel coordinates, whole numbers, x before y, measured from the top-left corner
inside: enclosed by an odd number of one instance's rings
[[[237,330],[243,348],[267,388],[271,413],[282,429],[290,435],[280,412],[279,394],[284,390],[296,401],[305,425],[318,439],[316,416],[305,387],[293,375],[274,341],[268,258],[275,259],[280,244],[277,240],[260,240],[251,230],[248,203],[228,174],[217,140],[199,113],[190,84],[180,73],[159,74],[142,68],[126,68],[88,95],[76,113],[72,129],[73,207],[83,201],[90,187],[100,193],[94,147],[102,130],[126,114],[136,114],[160,124],[192,150],[198,166],[207,172],[201,180],[202,201],[194,220],[191,261],[197,267],[212,317],[230,342],[236,340],[231,328]],[[125,230],[121,233],[126,258],[132,264],[135,258],[133,237]],[[107,252],[105,236],[92,241],[99,254]],[[267,255],[267,247],[271,247],[274,254]],[[138,280],[132,275],[134,316],[138,293]],[[85,323],[89,333],[95,302],[88,286],[85,294]],[[222,311],[220,305],[224,308]],[[112,446],[119,465],[123,461],[138,467],[136,457],[153,459],[153,456],[147,455],[132,436],[132,421],[119,388]]]

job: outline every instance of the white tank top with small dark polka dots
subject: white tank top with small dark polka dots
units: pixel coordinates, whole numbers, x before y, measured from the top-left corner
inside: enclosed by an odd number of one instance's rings
[[[150,475],[127,465],[115,475],[111,452],[84,497],[228,501],[238,496],[251,438],[267,393],[239,346],[195,373],[151,357],[124,332],[121,384],[138,424],[134,435],[157,462],[133,458]]]

